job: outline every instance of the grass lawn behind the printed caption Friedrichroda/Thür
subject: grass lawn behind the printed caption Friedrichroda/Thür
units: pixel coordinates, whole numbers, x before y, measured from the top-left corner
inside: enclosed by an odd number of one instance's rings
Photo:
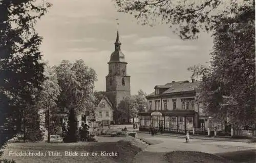
[[[141,145],[132,137],[127,137],[118,142],[79,142],[79,143],[17,143],[9,144],[5,150],[4,158],[13,159],[17,163],[34,162],[132,162],[134,156],[142,151],[145,145]],[[9,152],[34,152],[46,153],[48,151],[60,152],[61,156],[9,156]],[[65,152],[77,152],[77,156],[65,156]],[[101,152],[117,153],[117,156],[101,155]],[[81,153],[89,153],[81,156]],[[93,156],[92,152],[98,153]],[[95,154],[94,154],[95,155]]]

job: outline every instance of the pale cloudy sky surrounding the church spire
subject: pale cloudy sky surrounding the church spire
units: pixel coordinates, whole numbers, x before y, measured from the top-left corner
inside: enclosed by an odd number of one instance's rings
[[[119,19],[121,50],[131,76],[131,93],[150,94],[155,85],[190,80],[187,67],[207,64],[210,34],[182,41],[166,25],[141,26],[130,14],[118,13],[111,0],[51,0],[53,6],[36,26],[44,37],[41,51],[50,65],[83,59],[95,69],[96,90],[105,91],[110,55],[114,51]]]

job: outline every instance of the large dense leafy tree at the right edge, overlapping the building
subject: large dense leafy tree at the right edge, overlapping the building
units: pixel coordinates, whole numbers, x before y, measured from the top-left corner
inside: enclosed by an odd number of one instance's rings
[[[218,119],[237,127],[256,123],[255,110],[255,8],[242,6],[234,17],[222,19],[214,33],[210,67],[189,68],[203,75],[199,101]]]

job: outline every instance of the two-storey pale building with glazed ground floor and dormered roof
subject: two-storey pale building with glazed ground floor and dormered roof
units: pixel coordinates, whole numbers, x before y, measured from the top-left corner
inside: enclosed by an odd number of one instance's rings
[[[139,129],[150,127],[164,132],[186,133],[193,128],[207,130],[208,115],[196,101],[196,89],[200,81],[178,81],[156,85],[155,91],[146,96],[147,112],[139,113]]]

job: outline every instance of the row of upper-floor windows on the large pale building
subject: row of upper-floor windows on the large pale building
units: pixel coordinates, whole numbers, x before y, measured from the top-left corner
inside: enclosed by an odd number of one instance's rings
[[[194,99],[181,99],[182,110],[195,110]],[[152,101],[150,101],[150,110],[152,110]],[[162,110],[160,100],[155,100],[155,110]],[[163,100],[163,110],[167,110],[167,100]],[[173,110],[176,110],[176,99],[173,99]]]

